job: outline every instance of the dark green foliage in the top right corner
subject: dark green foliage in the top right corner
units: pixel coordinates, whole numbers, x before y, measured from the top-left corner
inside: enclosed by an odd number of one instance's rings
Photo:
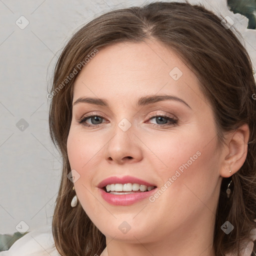
[[[227,4],[233,13],[238,12],[249,19],[247,28],[256,28],[256,0],[227,0]]]

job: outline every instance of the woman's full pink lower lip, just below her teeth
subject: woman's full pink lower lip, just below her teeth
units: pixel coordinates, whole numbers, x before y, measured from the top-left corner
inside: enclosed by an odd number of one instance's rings
[[[149,197],[151,194],[155,192],[157,187],[150,191],[146,192],[135,192],[130,194],[111,194],[107,193],[104,189],[99,188],[101,196],[103,199],[113,205],[130,205],[139,200],[145,199]]]

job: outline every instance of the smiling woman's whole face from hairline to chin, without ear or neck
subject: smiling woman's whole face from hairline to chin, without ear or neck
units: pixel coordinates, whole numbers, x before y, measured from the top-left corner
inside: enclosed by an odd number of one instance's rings
[[[211,226],[216,148],[196,75],[159,42],[99,49],[75,80],[68,159],[78,200],[106,237],[160,241]]]

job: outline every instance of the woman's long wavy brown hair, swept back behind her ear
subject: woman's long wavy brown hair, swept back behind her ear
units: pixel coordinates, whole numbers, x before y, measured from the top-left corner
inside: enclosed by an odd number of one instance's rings
[[[200,5],[152,2],[102,14],[84,25],[68,41],[54,70],[49,111],[50,136],[63,159],[52,221],[55,246],[61,255],[100,254],[106,246],[105,236],[91,222],[80,203],[74,208],[70,206],[74,191],[73,183],[67,178],[70,165],[66,141],[77,74],[72,78],[69,74],[75,73],[74,70],[78,72],[79,63],[85,65],[84,59],[103,46],[144,39],[156,39],[173,49],[196,74],[200,89],[214,110],[220,145],[223,131],[232,131],[248,123],[246,160],[231,176],[229,199],[225,190],[230,178],[222,179],[213,237],[217,256],[228,252],[240,255],[241,241],[248,239],[250,230],[256,227],[253,221],[256,217],[256,130],[253,125],[256,123],[256,100],[252,98],[255,81],[247,51],[234,35],[233,27],[226,29],[220,21],[213,12]],[[229,234],[220,228],[226,220],[234,226]]]

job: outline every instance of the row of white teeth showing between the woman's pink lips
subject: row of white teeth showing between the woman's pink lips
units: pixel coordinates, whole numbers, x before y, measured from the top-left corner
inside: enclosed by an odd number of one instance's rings
[[[138,183],[125,183],[125,184],[107,184],[105,186],[107,192],[118,192],[118,193],[113,193],[113,194],[126,194],[127,192],[132,192],[132,191],[138,191],[140,190],[141,192],[144,191],[150,191],[154,188],[154,186],[146,186],[146,185],[140,185]],[[121,192],[125,193],[121,193]]]

